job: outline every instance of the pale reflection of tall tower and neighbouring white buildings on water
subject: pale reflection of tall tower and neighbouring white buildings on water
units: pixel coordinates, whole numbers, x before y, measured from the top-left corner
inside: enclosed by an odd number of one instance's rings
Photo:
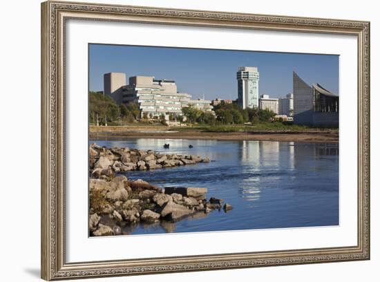
[[[243,198],[260,199],[263,183],[276,182],[281,171],[294,170],[294,142],[242,141],[240,182]]]

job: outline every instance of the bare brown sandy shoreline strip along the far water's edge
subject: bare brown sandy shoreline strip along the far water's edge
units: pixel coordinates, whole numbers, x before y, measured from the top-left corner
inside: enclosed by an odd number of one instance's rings
[[[173,131],[170,131],[173,130]],[[162,132],[164,131],[164,132]],[[189,140],[254,140],[282,142],[339,143],[337,130],[205,132],[168,126],[90,126],[90,140],[123,140],[128,138],[189,139]]]

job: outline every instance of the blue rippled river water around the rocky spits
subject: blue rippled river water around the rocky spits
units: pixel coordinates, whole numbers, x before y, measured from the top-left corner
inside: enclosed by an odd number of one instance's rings
[[[213,162],[129,171],[126,177],[160,187],[206,187],[208,198],[222,198],[234,207],[178,223],[141,224],[126,230],[129,234],[339,225],[338,144],[147,138],[93,142],[208,157]],[[165,143],[170,149],[163,148]]]

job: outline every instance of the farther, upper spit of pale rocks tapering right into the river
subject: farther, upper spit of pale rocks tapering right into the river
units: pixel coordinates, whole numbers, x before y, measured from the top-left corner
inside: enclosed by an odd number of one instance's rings
[[[209,162],[200,156],[182,156],[129,148],[106,148],[91,144],[90,173],[93,178],[109,178],[118,172],[179,167],[198,162]]]

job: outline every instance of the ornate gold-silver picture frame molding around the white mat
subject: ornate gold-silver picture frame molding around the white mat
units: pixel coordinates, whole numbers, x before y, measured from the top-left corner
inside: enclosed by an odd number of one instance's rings
[[[66,263],[65,61],[67,19],[354,35],[358,44],[357,245],[276,252]],[[220,270],[370,259],[370,23],[95,3],[41,3],[41,278]]]

